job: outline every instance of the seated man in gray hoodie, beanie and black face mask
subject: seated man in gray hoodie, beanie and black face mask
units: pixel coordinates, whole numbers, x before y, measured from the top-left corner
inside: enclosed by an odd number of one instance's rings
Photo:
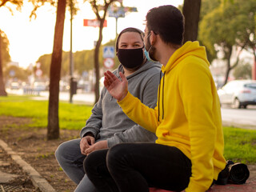
[[[136,28],[126,28],[118,35],[116,52],[122,63],[114,70],[121,71],[128,80],[128,90],[146,106],[154,108],[158,96],[161,65],[149,62],[144,55],[144,34]],[[79,139],[63,142],[55,152],[60,166],[67,176],[78,184],[76,192],[97,191],[83,170],[83,160],[94,150],[110,148],[122,142],[154,142],[155,134],[130,120],[122,112],[115,98],[104,87],[94,105]]]

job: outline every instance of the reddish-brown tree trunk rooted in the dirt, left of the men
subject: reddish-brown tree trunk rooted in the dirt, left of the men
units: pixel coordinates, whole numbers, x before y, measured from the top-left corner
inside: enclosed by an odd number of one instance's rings
[[[62,39],[66,11],[66,0],[58,0],[57,18],[54,31],[54,49],[50,63],[50,95],[48,106],[47,139],[59,137],[58,94],[62,67]]]

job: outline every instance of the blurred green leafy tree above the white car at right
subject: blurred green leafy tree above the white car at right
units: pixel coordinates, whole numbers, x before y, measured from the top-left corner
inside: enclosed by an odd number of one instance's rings
[[[204,12],[206,15],[200,23],[199,38],[210,54],[222,53],[222,58],[226,60],[226,83],[230,70],[238,65],[241,51],[246,47],[255,47],[256,0],[214,3],[212,5],[217,6],[215,9]],[[210,7],[210,0],[208,5]],[[231,63],[234,46],[240,51],[236,61]]]

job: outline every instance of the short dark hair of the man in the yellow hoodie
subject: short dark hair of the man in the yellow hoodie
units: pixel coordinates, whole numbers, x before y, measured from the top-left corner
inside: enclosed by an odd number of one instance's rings
[[[146,14],[147,29],[159,34],[167,44],[182,45],[184,34],[184,17],[175,6],[158,6]]]

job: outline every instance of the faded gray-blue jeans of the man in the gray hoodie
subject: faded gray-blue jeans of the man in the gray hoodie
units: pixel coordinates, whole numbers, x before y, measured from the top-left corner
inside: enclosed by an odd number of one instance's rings
[[[86,155],[81,154],[80,139],[63,142],[55,151],[55,157],[65,174],[78,184],[75,192],[98,191],[83,170],[83,161]]]

